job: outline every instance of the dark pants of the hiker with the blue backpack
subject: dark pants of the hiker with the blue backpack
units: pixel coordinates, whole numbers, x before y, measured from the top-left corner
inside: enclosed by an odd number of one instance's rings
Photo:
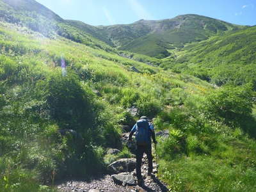
[[[146,146],[136,145],[136,174],[137,179],[142,179],[141,177],[141,163],[143,154],[147,154],[148,158],[148,172],[152,172],[153,163],[152,163],[152,150],[151,144]]]

